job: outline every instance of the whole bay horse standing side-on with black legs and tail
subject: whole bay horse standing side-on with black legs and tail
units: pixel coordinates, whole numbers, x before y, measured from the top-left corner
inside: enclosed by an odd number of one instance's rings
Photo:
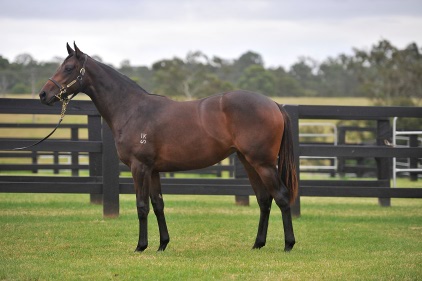
[[[148,246],[150,200],[160,233],[158,251],[170,241],[160,172],[200,169],[236,152],[255,192],[260,219],[253,245],[266,243],[272,200],[282,213],[285,251],[295,244],[290,204],[297,195],[290,119],[267,97],[233,91],[177,102],[149,94],[134,81],[67,44],[68,57],[40,91],[42,103],[88,95],[114,136],[118,156],[133,176],[139,219],[135,251]]]

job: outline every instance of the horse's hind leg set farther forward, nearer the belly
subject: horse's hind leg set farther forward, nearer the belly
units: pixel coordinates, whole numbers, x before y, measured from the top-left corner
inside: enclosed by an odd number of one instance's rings
[[[259,216],[259,225],[258,233],[256,234],[255,244],[253,249],[260,249],[265,246],[267,241],[267,230],[268,230],[268,221],[271,211],[271,203],[273,198],[266,190],[261,178],[255,171],[255,169],[246,161],[245,157],[241,153],[237,153],[240,161],[242,161],[243,166],[245,167],[246,172],[248,173],[249,182],[252,185],[252,188],[255,192],[256,199],[259,204],[260,216]]]

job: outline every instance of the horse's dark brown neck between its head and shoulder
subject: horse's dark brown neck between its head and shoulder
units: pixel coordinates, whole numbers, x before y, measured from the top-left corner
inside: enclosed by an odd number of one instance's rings
[[[86,94],[107,124],[113,129],[124,122],[134,104],[141,104],[148,94],[117,71],[96,65]]]

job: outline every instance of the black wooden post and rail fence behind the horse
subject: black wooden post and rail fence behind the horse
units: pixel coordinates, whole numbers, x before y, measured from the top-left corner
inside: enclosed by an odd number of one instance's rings
[[[55,121],[60,114],[60,105],[42,105],[38,100],[0,99],[0,114],[51,115]],[[296,151],[297,172],[300,177],[300,156],[306,157],[354,157],[374,158],[376,178],[371,180],[300,180],[299,196],[293,213],[300,215],[301,196],[321,197],[374,197],[381,206],[389,206],[391,198],[422,198],[421,188],[392,188],[390,185],[392,158],[422,158],[421,147],[393,147],[390,119],[393,117],[420,118],[418,107],[358,107],[358,106],[308,106],[286,105],[291,121]],[[49,139],[25,151],[12,151],[14,147],[29,145],[34,140],[26,138],[4,138],[0,136],[0,159],[29,159],[30,163],[0,162],[0,192],[10,193],[80,193],[90,194],[92,203],[103,204],[107,217],[119,215],[119,194],[133,193],[132,179],[122,176],[125,168],[119,163],[110,129],[90,101],[72,101],[67,115],[86,116],[86,124],[67,124],[60,130],[70,130],[68,139]],[[337,145],[300,143],[299,120],[375,120],[376,140],[373,145]],[[51,128],[52,124],[0,124],[3,129]],[[79,130],[87,130],[81,138]],[[52,164],[38,161],[42,155],[52,157]],[[67,155],[67,163],[60,163],[60,156]],[[80,163],[79,156],[88,160]],[[70,162],[70,163],[69,163]],[[174,178],[163,177],[164,194],[234,195],[239,204],[247,204],[253,190],[238,161],[230,161],[189,173],[213,174],[215,177]],[[40,170],[70,170],[68,176],[39,173]],[[82,170],[88,171],[81,173]],[[23,174],[19,171],[28,171]],[[123,173],[122,173],[123,171]],[[221,177],[226,173],[225,177]],[[413,172],[412,177],[415,177]],[[164,176],[164,175],[162,175]]]

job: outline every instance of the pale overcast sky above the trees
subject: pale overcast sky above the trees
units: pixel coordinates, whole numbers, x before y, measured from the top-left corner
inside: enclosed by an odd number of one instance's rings
[[[0,55],[13,61],[65,57],[76,41],[119,66],[184,58],[189,51],[235,59],[252,50],[266,66],[301,56],[322,61],[381,39],[422,47],[422,0],[0,0]]]

